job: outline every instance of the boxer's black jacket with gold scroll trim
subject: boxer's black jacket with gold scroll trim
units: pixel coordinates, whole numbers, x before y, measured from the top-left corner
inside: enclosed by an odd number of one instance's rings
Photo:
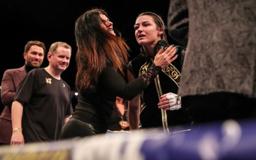
[[[163,51],[165,51],[170,45],[165,40],[158,41],[155,53],[159,51],[161,46],[163,47]],[[163,69],[154,79],[154,82],[151,82],[141,93],[140,122],[143,128],[162,126],[164,129],[168,129],[168,125],[186,124],[190,122],[186,111],[183,109],[163,111],[157,105],[161,95],[169,92],[177,94],[185,53],[186,48],[178,46],[176,53],[178,54],[178,58]],[[129,62],[128,69],[137,78],[143,75],[152,63],[153,58],[145,55],[143,48],[141,48],[141,53]]]

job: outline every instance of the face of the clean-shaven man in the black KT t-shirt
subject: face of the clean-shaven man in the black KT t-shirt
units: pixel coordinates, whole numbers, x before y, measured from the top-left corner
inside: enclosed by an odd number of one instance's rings
[[[63,46],[59,46],[53,55],[52,53],[48,53],[48,60],[55,71],[63,72],[65,71],[65,69],[67,69],[67,67],[69,67],[70,56],[70,49],[67,49]]]

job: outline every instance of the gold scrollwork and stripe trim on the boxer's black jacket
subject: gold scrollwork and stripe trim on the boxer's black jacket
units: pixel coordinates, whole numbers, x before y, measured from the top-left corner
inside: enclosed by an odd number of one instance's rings
[[[152,64],[153,64],[153,59],[150,58],[149,62],[147,61],[145,64],[141,66],[139,70],[139,76],[143,75],[148,70],[148,67],[150,67]],[[165,69],[162,70],[162,72],[165,73],[165,75],[167,75],[171,80],[173,80],[173,82],[179,87],[181,74],[178,71],[178,69],[174,67],[173,64],[169,64]],[[154,78],[154,81],[155,81],[156,91],[158,93],[158,99],[160,100],[163,93],[161,89],[159,75],[157,75],[156,78]],[[143,99],[143,92],[144,91],[142,91],[141,93],[142,99]],[[145,107],[146,107],[146,104],[144,102],[141,103],[141,112]],[[166,111],[161,109],[161,114],[162,114],[162,124],[163,124],[164,133],[169,133]]]

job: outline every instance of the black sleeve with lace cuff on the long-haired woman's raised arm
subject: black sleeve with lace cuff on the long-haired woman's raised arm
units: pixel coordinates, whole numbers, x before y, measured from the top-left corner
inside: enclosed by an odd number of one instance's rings
[[[135,96],[141,93],[158,73],[160,73],[161,67],[153,64],[147,72],[135,79],[132,82],[126,83],[122,76],[114,69],[110,63],[106,64],[106,69],[103,71],[100,79],[105,85],[105,88],[114,93],[120,98],[126,100],[132,100]]]

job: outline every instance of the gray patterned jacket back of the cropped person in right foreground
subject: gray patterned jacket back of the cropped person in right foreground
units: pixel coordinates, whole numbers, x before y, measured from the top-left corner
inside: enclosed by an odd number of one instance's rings
[[[188,0],[189,38],[178,95],[256,97],[256,0]]]

